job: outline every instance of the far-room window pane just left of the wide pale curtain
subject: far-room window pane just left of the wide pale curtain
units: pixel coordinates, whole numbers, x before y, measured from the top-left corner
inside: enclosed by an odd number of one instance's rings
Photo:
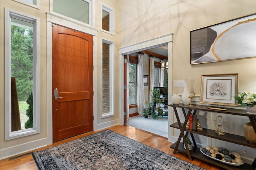
[[[137,104],[137,64],[130,63],[129,104]]]

